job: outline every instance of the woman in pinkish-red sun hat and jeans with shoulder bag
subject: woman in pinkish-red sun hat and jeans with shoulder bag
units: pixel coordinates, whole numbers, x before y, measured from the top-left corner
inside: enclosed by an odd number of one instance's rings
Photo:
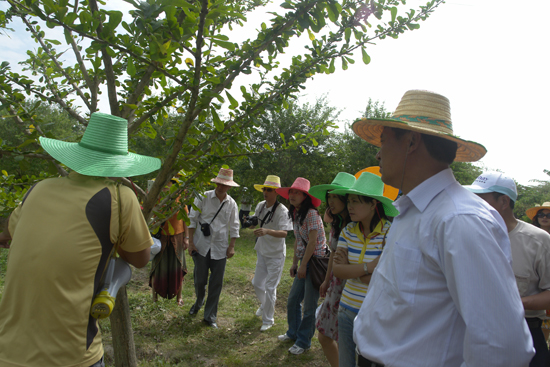
[[[302,354],[311,347],[319,290],[311,282],[308,262],[312,256],[324,257],[327,253],[325,228],[316,209],[321,205],[321,200],[310,195],[309,188],[309,181],[298,177],[291,187],[277,189],[279,195],[290,201],[288,215],[293,222],[296,237],[290,267],[290,276],[294,282],[287,301],[288,330],[278,338],[280,341],[294,340],[294,345],[288,350],[291,354]]]

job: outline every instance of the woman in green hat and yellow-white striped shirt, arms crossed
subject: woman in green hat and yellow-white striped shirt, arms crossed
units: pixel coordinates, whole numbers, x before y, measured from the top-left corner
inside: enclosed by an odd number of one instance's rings
[[[364,172],[349,189],[330,194],[346,195],[352,223],[342,230],[334,256],[333,272],[347,279],[338,310],[339,365],[355,365],[353,320],[367,294],[368,284],[378,264],[391,223],[388,217],[399,212],[393,200],[383,195],[384,183],[375,174]]]

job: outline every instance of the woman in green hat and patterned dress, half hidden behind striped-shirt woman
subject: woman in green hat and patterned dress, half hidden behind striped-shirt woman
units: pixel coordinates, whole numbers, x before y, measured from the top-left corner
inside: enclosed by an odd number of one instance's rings
[[[317,185],[309,189],[309,193],[327,204],[325,218],[331,220],[330,238],[328,245],[330,247],[330,258],[328,263],[327,275],[325,281],[319,287],[321,297],[325,297],[315,320],[315,327],[319,331],[318,338],[323,352],[332,367],[338,366],[338,305],[340,296],[346,284],[345,280],[337,278],[332,273],[332,264],[334,254],[338,246],[338,237],[340,232],[349,222],[349,214],[346,208],[346,197],[336,194],[330,194],[329,191],[336,189],[347,189],[355,183],[355,176],[340,172],[336,175],[332,183],[328,185]]]

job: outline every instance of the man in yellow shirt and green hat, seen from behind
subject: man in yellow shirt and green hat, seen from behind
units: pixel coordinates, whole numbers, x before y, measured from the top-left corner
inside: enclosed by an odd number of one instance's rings
[[[40,144],[72,172],[34,185],[10,216],[0,365],[104,366],[90,307],[106,264],[116,248],[143,267],[153,244],[134,192],[106,177],[143,175],[160,160],[129,153],[128,122],[99,112],[79,143]]]

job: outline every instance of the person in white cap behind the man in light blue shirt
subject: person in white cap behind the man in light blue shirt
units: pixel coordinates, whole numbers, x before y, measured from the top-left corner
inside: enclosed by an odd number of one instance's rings
[[[512,178],[500,172],[484,172],[466,188],[495,208],[506,223],[512,268],[536,350],[529,366],[547,367],[550,355],[541,326],[545,310],[550,308],[550,234],[516,219],[514,203],[518,194]]]

